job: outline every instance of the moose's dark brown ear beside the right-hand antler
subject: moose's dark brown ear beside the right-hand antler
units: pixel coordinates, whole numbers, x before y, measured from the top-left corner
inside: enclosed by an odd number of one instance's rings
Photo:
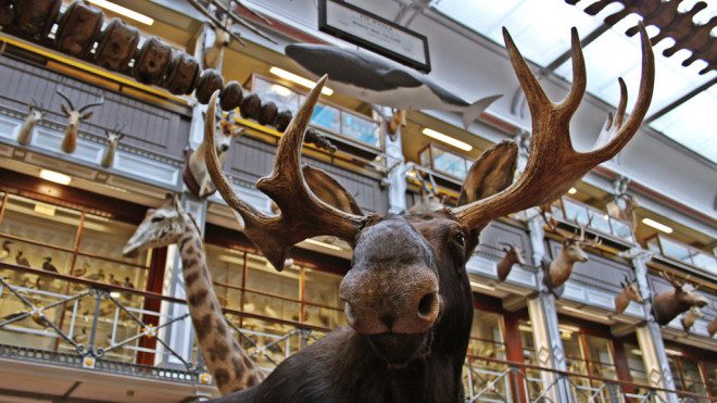
[[[518,158],[514,141],[502,141],[486,150],[473,163],[458,197],[458,205],[485,199],[507,188],[513,182]]]

